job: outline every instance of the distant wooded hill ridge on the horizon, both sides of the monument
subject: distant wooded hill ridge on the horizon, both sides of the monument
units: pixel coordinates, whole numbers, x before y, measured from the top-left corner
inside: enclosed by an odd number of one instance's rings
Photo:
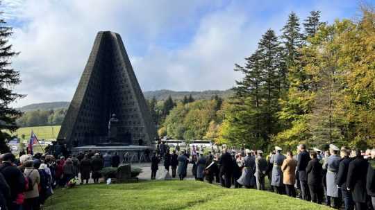
[[[172,96],[173,99],[181,100],[183,96],[189,96],[190,94],[194,99],[210,99],[217,95],[221,98],[228,98],[233,95],[231,89],[228,90],[205,90],[205,91],[172,91],[168,89],[161,89],[156,91],[144,91],[144,98],[151,99],[153,97],[156,100],[165,100],[168,96]],[[34,110],[58,110],[61,108],[67,108],[69,102],[57,101],[48,103],[33,103],[19,108],[22,112],[34,111]]]

